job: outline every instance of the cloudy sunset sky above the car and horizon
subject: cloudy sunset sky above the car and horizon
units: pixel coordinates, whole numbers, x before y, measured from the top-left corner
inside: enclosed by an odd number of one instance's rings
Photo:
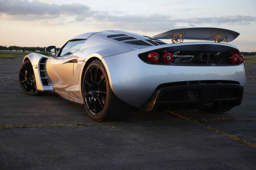
[[[256,51],[256,0],[0,0],[3,46],[61,47],[85,32],[114,29],[152,37],[189,27],[239,32],[229,43]]]

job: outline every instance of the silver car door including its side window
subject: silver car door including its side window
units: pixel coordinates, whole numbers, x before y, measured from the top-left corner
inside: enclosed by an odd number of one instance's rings
[[[85,40],[68,41],[57,53],[56,58],[47,60],[46,68],[49,78],[55,86],[67,86],[73,78],[74,62],[72,54],[80,51]]]

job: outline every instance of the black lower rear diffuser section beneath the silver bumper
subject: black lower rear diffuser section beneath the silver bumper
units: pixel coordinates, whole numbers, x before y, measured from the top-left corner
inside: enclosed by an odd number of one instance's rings
[[[157,87],[151,98],[137,111],[173,111],[238,106],[241,105],[243,92],[242,85],[230,81],[167,83]]]

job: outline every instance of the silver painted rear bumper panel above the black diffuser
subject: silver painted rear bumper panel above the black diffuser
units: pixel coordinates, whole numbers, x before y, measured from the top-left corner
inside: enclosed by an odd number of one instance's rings
[[[140,52],[140,51],[139,51]],[[135,108],[142,107],[159,85],[185,81],[236,81],[245,87],[244,66],[207,65],[175,66],[154,65],[143,62],[138,51],[130,51],[102,58],[111,89],[119,99]]]

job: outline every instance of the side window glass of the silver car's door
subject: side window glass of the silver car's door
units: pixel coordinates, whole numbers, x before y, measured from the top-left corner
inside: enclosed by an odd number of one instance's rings
[[[60,56],[67,56],[74,54],[77,51],[80,51],[82,45],[86,40],[71,40],[68,41],[58,52],[58,57]]]

